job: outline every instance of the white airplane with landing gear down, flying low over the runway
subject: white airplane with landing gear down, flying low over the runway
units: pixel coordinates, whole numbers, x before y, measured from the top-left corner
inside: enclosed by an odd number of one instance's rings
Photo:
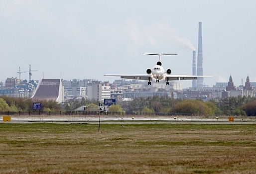
[[[151,85],[151,82],[156,79],[156,83],[159,83],[159,80],[165,79],[166,85],[170,85],[169,81],[179,81],[179,80],[197,80],[197,78],[208,78],[213,76],[191,76],[191,75],[172,75],[171,69],[164,71],[161,63],[161,56],[166,55],[177,55],[177,54],[161,54],[161,53],[143,53],[146,55],[157,55],[159,56],[156,66],[152,69],[147,69],[146,74],[135,74],[135,75],[104,75],[104,76],[120,76],[121,79],[136,79],[136,80],[146,80],[147,85]]]

